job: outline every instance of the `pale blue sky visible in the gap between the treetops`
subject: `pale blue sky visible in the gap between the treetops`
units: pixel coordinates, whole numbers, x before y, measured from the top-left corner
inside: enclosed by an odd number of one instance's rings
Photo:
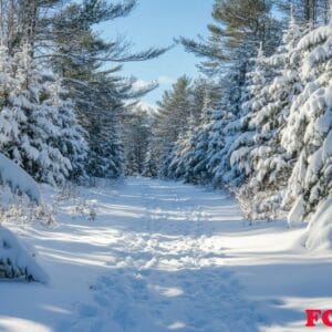
[[[211,22],[212,2],[214,0],[138,0],[138,6],[131,15],[104,23],[98,30],[103,30],[106,38],[125,35],[137,51],[149,46],[167,46],[179,35],[205,35],[206,25]],[[158,80],[159,89],[143,98],[144,103],[155,104],[163,91],[169,89],[180,75],[199,75],[196,69],[198,61],[181,46],[176,46],[156,60],[126,63],[123,74],[134,75],[142,83]]]

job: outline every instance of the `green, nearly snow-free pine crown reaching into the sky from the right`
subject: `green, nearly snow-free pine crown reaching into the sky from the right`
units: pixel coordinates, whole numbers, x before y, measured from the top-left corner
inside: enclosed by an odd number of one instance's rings
[[[187,51],[206,59],[200,65],[205,73],[222,74],[228,63],[246,71],[245,63],[255,56],[260,42],[267,54],[278,45],[279,23],[271,17],[271,1],[266,0],[215,0],[215,23],[208,25],[208,40],[179,41]]]

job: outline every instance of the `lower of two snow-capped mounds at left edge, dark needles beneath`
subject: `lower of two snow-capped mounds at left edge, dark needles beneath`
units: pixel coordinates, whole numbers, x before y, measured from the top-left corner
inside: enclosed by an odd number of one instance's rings
[[[48,276],[37,264],[33,253],[19,242],[17,237],[0,226],[0,279],[22,279],[45,283]]]

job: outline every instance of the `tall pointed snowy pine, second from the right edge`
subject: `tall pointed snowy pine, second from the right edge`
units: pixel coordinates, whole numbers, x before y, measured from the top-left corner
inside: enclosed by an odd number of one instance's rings
[[[252,170],[248,183],[238,193],[250,218],[279,215],[282,193],[292,172],[293,163],[281,147],[280,132],[286,125],[291,103],[302,90],[299,77],[301,54],[294,51],[301,30],[291,14],[281,46],[264,61],[277,76],[263,87],[269,94],[268,103],[250,116],[249,124],[256,131],[255,146],[249,155]]]

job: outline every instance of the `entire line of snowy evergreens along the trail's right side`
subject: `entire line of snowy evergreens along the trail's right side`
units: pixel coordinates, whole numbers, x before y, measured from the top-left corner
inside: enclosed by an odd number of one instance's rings
[[[236,193],[247,217],[308,220],[332,193],[332,3],[216,0],[180,38],[180,77],[154,116],[146,174]]]

